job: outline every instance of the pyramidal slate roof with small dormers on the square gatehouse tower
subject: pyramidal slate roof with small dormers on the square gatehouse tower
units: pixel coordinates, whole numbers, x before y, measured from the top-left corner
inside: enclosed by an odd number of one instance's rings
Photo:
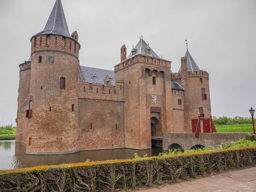
[[[150,53],[147,52],[148,44],[143,40],[143,38],[140,39],[139,43],[134,47],[136,52],[134,52],[134,55],[130,52],[128,55],[127,59],[133,58],[136,55],[145,55],[149,57],[154,57],[154,58],[160,58],[158,55],[151,49]]]

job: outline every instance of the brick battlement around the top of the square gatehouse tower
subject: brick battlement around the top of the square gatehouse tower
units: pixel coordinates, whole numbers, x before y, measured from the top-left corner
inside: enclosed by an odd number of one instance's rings
[[[115,72],[122,70],[126,67],[130,67],[131,65],[134,65],[138,62],[156,65],[156,66],[160,66],[160,67],[169,67],[169,68],[171,68],[171,63],[172,63],[171,61],[161,59],[161,58],[157,59],[157,58],[149,57],[149,56],[136,55],[135,57],[130,58],[125,61],[122,61],[120,64],[114,66]]]

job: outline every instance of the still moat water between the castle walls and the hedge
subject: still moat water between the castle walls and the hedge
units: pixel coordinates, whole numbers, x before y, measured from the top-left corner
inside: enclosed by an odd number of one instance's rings
[[[39,165],[59,165],[62,163],[79,163],[87,159],[102,161],[112,159],[129,159],[137,153],[140,157],[148,154],[148,157],[158,155],[162,148],[147,150],[136,149],[108,149],[96,151],[79,151],[72,154],[58,155],[29,155],[26,154],[26,145],[15,143],[15,140],[0,140],[0,169],[26,168]]]

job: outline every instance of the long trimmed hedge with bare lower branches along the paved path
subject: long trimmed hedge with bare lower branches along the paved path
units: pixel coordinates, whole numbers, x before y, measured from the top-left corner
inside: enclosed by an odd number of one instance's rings
[[[151,186],[256,163],[256,146],[0,171],[0,192],[95,192]]]

